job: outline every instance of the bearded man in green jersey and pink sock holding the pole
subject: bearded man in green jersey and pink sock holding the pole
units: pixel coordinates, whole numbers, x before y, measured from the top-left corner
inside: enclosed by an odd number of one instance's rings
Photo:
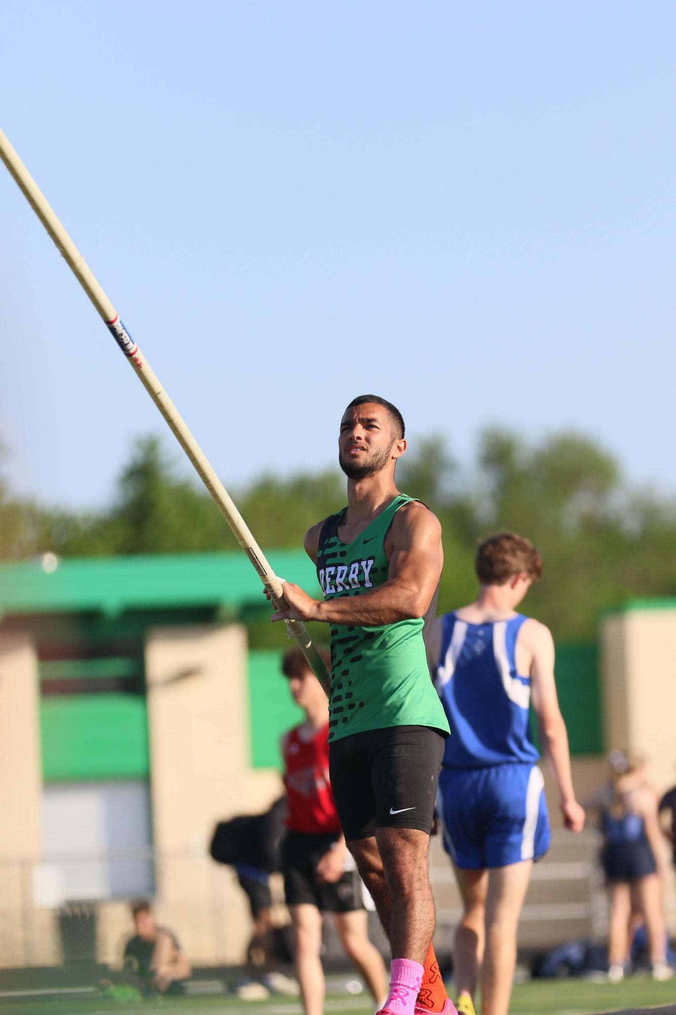
[[[455,1012],[439,974],[428,877],[430,832],[448,723],[426,661],[424,632],[443,564],[441,526],[399,493],[406,450],[395,406],[354,399],[341,420],[348,506],[313,526],[305,550],[323,600],[284,585],[273,620],[330,625],[330,780],[348,848],[390,942],[384,1010]]]

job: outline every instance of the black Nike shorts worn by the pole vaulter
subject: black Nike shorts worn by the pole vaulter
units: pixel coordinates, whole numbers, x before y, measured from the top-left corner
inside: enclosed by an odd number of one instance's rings
[[[366,730],[330,743],[333,800],[348,841],[376,828],[432,831],[445,737],[428,726]]]

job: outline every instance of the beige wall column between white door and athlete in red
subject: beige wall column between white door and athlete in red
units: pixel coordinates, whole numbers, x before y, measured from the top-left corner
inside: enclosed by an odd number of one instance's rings
[[[158,916],[194,962],[240,961],[246,899],[205,851],[217,820],[259,813],[281,792],[276,771],[249,767],[246,632],[154,629],[146,679]]]

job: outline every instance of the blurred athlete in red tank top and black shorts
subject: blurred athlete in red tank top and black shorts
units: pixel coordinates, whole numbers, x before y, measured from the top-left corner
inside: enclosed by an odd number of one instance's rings
[[[321,654],[328,665],[328,653]],[[381,1008],[387,996],[385,963],[368,938],[365,889],[341,831],[328,779],[328,702],[299,649],[285,655],[282,672],[305,712],[305,722],[282,739],[287,788],[282,871],[303,1008],[306,1015],[323,1015],[322,912],[334,915],[341,943]]]

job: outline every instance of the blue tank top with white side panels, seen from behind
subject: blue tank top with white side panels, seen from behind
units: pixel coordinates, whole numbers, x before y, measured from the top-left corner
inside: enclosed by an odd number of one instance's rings
[[[451,735],[443,764],[485,768],[509,762],[533,763],[530,677],[517,673],[514,650],[527,617],[471,624],[455,613],[443,618],[435,686]]]

